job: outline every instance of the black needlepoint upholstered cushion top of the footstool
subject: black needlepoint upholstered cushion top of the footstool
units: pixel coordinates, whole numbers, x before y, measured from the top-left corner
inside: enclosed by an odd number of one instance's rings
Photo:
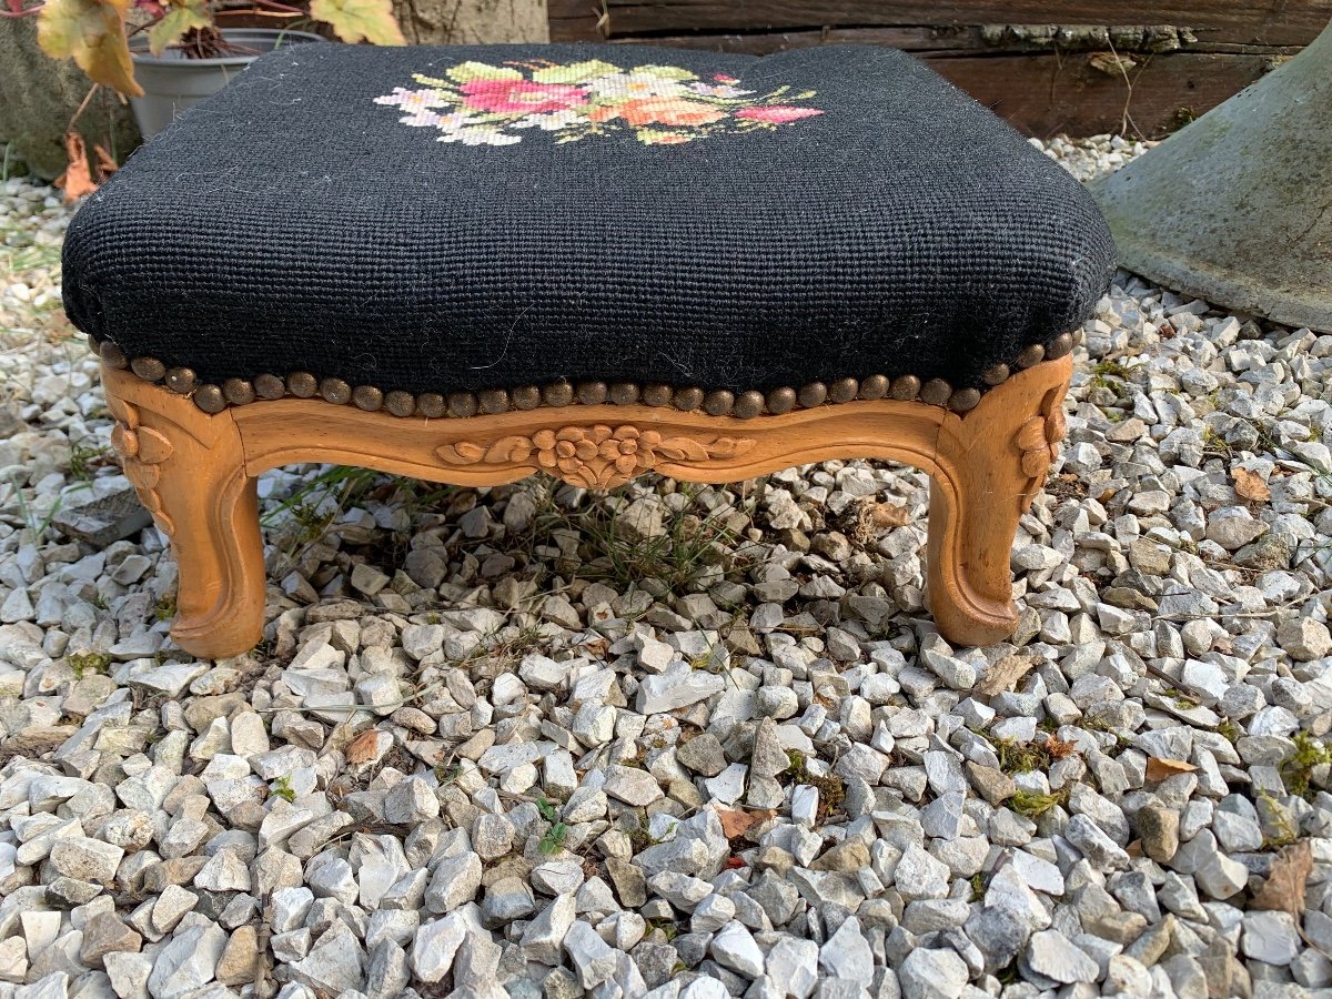
[[[326,44],[131,157],[69,228],[64,296],[210,382],[963,388],[1112,268],[1076,181],[891,49]]]

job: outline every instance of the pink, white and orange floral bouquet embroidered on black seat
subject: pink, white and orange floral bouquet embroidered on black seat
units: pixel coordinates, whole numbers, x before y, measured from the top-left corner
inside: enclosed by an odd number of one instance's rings
[[[531,129],[553,132],[557,143],[633,129],[646,145],[677,145],[717,133],[775,131],[823,113],[791,103],[810,100],[814,91],[778,87],[761,95],[742,89],[733,76],[703,81],[669,65],[626,71],[599,60],[462,63],[444,77],[413,79],[417,88],[397,87],[374,103],[401,108],[404,125],[433,128],[438,141],[464,145],[513,145],[522,141],[521,131]]]

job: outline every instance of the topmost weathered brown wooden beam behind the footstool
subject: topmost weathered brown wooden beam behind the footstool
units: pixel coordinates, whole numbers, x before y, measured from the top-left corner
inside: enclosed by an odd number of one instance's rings
[[[1173,24],[1204,43],[1305,45],[1329,20],[1332,0],[550,0],[553,41],[825,25]]]

